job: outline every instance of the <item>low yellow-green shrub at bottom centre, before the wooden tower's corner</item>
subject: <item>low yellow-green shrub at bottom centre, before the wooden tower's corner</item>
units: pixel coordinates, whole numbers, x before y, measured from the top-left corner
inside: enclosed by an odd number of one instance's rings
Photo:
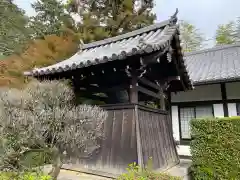
[[[179,177],[170,176],[166,173],[156,173],[146,168],[140,171],[136,163],[130,164],[127,173],[122,174],[117,180],[181,180]]]

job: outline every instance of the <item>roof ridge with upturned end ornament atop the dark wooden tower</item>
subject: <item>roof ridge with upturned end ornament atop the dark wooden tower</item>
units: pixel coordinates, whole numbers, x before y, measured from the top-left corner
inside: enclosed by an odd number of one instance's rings
[[[97,46],[102,46],[105,44],[113,43],[113,42],[120,41],[120,40],[130,38],[130,37],[134,37],[134,36],[137,36],[137,35],[140,35],[143,33],[147,33],[149,31],[154,31],[154,30],[163,28],[164,26],[167,26],[167,25],[171,25],[171,24],[174,25],[177,23],[177,14],[178,14],[178,9],[176,9],[176,12],[168,20],[165,20],[165,21],[162,21],[159,23],[155,23],[155,24],[152,24],[152,25],[149,25],[149,26],[125,33],[125,34],[121,34],[121,35],[110,37],[110,38],[103,39],[100,41],[95,41],[92,43],[84,44],[82,47],[82,50],[94,48]]]

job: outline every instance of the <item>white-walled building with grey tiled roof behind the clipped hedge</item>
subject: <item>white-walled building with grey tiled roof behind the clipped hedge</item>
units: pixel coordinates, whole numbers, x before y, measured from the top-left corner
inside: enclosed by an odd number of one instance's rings
[[[178,153],[190,156],[191,119],[240,115],[240,45],[188,53],[185,63],[195,89],[171,94],[171,115]]]

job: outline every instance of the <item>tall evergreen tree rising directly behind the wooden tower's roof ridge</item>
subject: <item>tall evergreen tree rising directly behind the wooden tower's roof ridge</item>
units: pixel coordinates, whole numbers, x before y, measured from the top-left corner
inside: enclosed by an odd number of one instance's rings
[[[153,24],[153,6],[153,0],[72,0],[68,9],[82,19],[78,28],[88,43]]]

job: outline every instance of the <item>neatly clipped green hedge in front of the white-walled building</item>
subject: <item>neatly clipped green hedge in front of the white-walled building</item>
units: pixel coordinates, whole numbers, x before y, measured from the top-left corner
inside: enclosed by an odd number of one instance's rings
[[[240,179],[240,117],[191,121],[196,180]]]

